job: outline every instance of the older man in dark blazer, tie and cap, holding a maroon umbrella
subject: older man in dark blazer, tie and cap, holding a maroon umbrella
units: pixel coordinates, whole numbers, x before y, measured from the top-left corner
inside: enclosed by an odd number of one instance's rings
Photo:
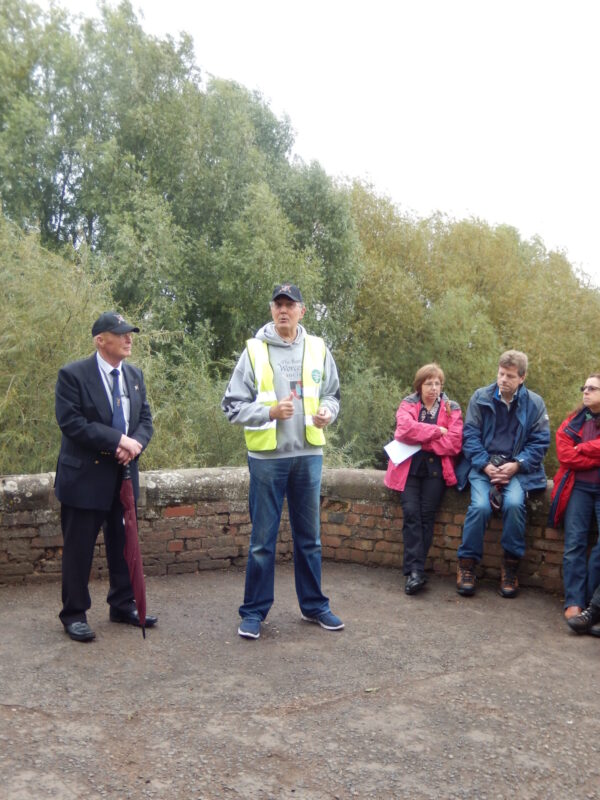
[[[119,492],[128,466],[137,500],[138,458],[152,436],[152,415],[141,370],[124,363],[131,355],[132,333],[139,333],[139,328],[114,311],[105,312],[92,326],[96,353],[67,364],[56,383],[62,442],[55,494],[61,503],[64,539],[59,616],[66,633],[80,642],[95,638],[86,612],[91,606],[88,582],[101,527],[110,579],[110,619],[140,624],[123,556]],[[156,617],[146,617],[146,627],[155,623]]]

